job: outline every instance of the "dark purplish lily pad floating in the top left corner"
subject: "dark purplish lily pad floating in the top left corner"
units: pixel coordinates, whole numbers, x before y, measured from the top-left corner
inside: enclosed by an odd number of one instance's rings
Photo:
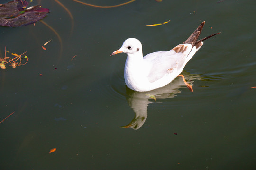
[[[40,5],[27,8],[26,0],[13,0],[5,4],[0,4],[0,26],[27,26],[33,24],[50,12]]]

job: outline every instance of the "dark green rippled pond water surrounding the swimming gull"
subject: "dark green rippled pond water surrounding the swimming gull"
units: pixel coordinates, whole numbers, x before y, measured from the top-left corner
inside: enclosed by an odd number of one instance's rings
[[[0,27],[1,55],[6,46],[29,58],[0,70],[0,120],[15,111],[0,124],[0,170],[255,169],[256,1],[59,1],[73,20],[54,0],[40,3],[61,42],[41,22]],[[193,93],[180,77],[150,92],[156,101],[126,88],[126,55],[110,57],[124,40],[139,39],[144,55],[166,51],[202,21],[201,38],[221,34],[184,68]]]

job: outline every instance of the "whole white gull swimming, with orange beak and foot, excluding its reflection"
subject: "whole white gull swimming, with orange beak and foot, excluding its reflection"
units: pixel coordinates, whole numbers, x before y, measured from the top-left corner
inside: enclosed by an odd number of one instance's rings
[[[198,40],[205,21],[189,36],[189,38],[170,51],[157,51],[143,57],[142,45],[136,38],[128,38],[121,48],[110,56],[126,53],[124,78],[128,88],[146,92],[169,84],[177,76],[181,76],[185,85],[193,92],[183,75],[180,75],[187,62],[203,45],[203,41],[219,33]]]

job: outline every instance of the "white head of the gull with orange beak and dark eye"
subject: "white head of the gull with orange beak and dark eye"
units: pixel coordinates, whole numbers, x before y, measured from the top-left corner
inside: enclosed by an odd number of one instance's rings
[[[118,53],[126,53],[128,55],[142,53],[142,45],[140,41],[136,38],[128,38],[124,41],[122,47],[119,50],[114,51],[111,55],[115,55]]]

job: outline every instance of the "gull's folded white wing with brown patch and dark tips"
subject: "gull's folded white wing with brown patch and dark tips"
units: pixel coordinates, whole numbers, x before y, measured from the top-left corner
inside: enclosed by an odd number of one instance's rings
[[[186,63],[203,45],[202,41],[219,34],[212,34],[208,37],[198,40],[204,24],[205,22],[202,22],[189,36],[189,38],[183,42],[183,44],[177,45],[170,51],[153,52],[144,57],[145,61],[149,61],[149,82],[155,82],[165,76],[167,73],[174,74],[175,77],[178,76],[182,72]],[[192,53],[190,54],[191,51]]]

